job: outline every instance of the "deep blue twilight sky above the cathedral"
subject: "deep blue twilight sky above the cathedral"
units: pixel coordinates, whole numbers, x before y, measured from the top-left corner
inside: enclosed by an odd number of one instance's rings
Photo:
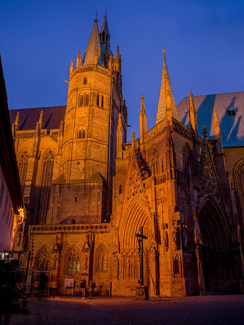
[[[155,123],[163,48],[176,105],[190,91],[244,90],[244,1],[8,0],[0,4],[0,52],[9,109],[66,105],[70,60],[83,56],[95,11],[101,29],[105,7],[136,136],[142,94],[148,129]]]

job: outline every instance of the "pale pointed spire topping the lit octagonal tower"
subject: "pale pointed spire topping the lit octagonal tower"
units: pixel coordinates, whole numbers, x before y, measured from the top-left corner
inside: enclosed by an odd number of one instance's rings
[[[97,49],[98,60],[97,64],[104,67],[104,59],[102,55],[102,47],[100,43],[99,31],[98,31],[98,20],[94,20],[94,26],[87,44],[87,48],[82,60],[82,65],[94,64],[94,50]]]

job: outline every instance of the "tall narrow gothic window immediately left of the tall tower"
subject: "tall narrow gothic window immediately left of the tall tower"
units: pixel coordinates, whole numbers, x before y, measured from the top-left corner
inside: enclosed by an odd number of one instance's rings
[[[38,222],[40,225],[45,224],[46,214],[49,208],[49,200],[52,185],[52,173],[54,164],[54,153],[50,149],[44,156],[42,177],[41,177],[41,190],[39,196],[39,209],[38,209]]]

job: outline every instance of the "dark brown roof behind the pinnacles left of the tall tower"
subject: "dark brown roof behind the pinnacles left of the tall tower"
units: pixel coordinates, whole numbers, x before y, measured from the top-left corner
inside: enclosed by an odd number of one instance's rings
[[[42,129],[47,129],[47,131],[59,129],[60,122],[64,119],[66,105],[9,110],[11,124],[14,123],[17,113],[20,112],[18,131],[34,130],[41,110],[43,111]]]

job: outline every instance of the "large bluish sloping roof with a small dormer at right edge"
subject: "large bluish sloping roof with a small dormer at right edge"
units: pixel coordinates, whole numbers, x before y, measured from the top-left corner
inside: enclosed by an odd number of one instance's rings
[[[244,146],[244,92],[193,96],[197,112],[197,128],[201,135],[203,125],[207,136],[215,139],[213,126],[213,107],[216,108],[223,147]],[[189,97],[177,105],[180,121],[190,128]],[[235,110],[230,116],[228,110]]]

